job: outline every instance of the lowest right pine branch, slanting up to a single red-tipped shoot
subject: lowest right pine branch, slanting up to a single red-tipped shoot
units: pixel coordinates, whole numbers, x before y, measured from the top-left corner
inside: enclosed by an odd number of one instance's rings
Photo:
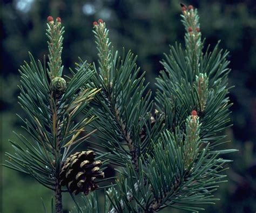
[[[193,116],[188,118],[187,125],[198,121]],[[197,131],[187,126],[186,136],[179,137],[166,131],[154,146],[153,156],[148,156],[146,163],[140,159],[139,171],[135,171],[132,164],[127,164],[120,173],[117,188],[112,189],[117,194],[109,197],[114,207],[109,212],[155,212],[165,207],[198,211],[203,209],[188,207],[187,204],[213,203],[216,199],[211,193],[225,177],[219,175],[224,162],[218,154],[207,154],[206,147],[197,149],[195,157],[190,159],[189,164],[186,163],[186,156],[191,153],[186,149],[186,143],[183,147],[184,138],[193,144]],[[198,147],[199,144],[198,141]]]

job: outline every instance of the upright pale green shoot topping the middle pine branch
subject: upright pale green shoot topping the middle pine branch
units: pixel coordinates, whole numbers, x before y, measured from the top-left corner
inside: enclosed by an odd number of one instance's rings
[[[110,79],[111,56],[112,52],[109,49],[109,30],[106,29],[105,22],[99,19],[98,22],[93,22],[98,56],[99,56],[99,71],[105,83]]]

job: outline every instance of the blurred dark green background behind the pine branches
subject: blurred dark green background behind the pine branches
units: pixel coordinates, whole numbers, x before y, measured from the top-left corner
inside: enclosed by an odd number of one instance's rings
[[[159,60],[169,53],[169,44],[177,40],[184,44],[184,28],[180,22],[180,5],[176,0],[94,0],[46,1],[4,0],[1,5],[1,157],[12,152],[8,139],[16,140],[12,130],[24,133],[16,113],[24,115],[17,104],[19,94],[18,68],[29,60],[28,51],[43,60],[48,53],[46,18],[61,17],[65,26],[64,74],[74,67],[78,57],[97,61],[92,22],[102,18],[110,29],[112,44],[122,51],[138,54],[138,64],[146,71],[147,81],[155,91],[154,78],[163,68]],[[183,1],[199,10],[201,32],[205,46],[230,51],[230,91],[233,127],[226,130],[228,148],[239,152],[227,171],[227,183],[221,184],[215,195],[220,201],[207,206],[206,212],[256,211],[256,4],[255,0]],[[0,167],[3,213],[43,212],[41,197],[50,207],[52,193],[32,178]],[[65,212],[75,204],[64,196]],[[166,212],[181,212],[167,210]]]

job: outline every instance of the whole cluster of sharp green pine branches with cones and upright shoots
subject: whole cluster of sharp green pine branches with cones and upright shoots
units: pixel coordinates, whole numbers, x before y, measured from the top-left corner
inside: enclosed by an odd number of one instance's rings
[[[76,202],[72,211],[88,213],[166,207],[197,212],[201,204],[217,200],[212,193],[225,181],[221,172],[229,162],[222,155],[234,152],[218,149],[225,143],[231,106],[228,52],[218,44],[204,52],[197,9],[181,5],[181,10],[185,51],[178,44],[170,47],[154,98],[137,57],[130,51],[119,56],[110,48],[102,19],[93,23],[98,66],[80,60],[65,80],[64,30],[60,18],[48,17],[48,68],[31,54],[31,63],[21,68],[19,103],[28,115],[23,121],[31,140],[17,135],[23,145],[11,141],[15,155],[6,154],[5,166],[55,191],[56,212],[62,212],[63,192],[75,201],[73,194],[83,193],[84,204]],[[86,126],[97,129],[98,140],[89,142],[91,150],[75,152],[92,133]],[[95,190],[106,163],[115,165],[118,175],[112,185],[103,184],[101,204]]]

